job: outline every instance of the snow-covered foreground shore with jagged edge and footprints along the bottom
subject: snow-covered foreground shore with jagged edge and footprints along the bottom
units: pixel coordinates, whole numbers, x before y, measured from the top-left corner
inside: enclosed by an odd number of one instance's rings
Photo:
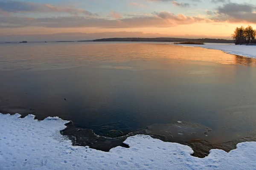
[[[125,140],[130,148],[102,152],[72,146],[59,132],[67,121],[58,117],[19,117],[0,113],[0,170],[256,169],[256,142],[240,143],[230,153],[211,150],[200,159],[190,156],[188,146],[137,135]]]

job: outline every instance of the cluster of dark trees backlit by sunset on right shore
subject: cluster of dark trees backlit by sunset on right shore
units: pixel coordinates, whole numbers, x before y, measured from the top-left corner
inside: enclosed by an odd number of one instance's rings
[[[243,26],[236,27],[232,37],[235,40],[235,44],[256,44],[256,30],[252,26],[247,26],[246,28]]]

